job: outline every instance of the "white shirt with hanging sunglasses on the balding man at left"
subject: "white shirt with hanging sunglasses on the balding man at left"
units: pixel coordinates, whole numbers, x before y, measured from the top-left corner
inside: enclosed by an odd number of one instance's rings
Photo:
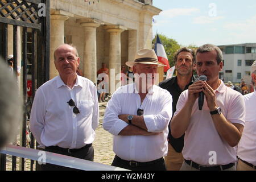
[[[68,105],[71,98],[79,114]],[[39,147],[81,148],[94,141],[98,117],[97,90],[92,81],[77,76],[71,89],[56,76],[36,91],[30,129]]]

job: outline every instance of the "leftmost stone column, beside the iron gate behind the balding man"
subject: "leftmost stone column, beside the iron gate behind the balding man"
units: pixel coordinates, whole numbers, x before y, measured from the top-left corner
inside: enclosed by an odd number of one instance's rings
[[[61,14],[52,14],[51,15],[51,46],[50,46],[50,60],[49,60],[49,78],[53,78],[59,73],[57,72],[54,64],[53,52],[54,50],[64,44],[64,22],[69,16]]]

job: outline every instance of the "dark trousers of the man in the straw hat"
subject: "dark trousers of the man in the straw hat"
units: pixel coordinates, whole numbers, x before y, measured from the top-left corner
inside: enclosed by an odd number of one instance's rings
[[[166,163],[164,163],[163,158],[153,160],[151,162],[141,163],[123,160],[115,155],[115,158],[111,165],[115,167],[129,169],[132,171],[166,171]]]

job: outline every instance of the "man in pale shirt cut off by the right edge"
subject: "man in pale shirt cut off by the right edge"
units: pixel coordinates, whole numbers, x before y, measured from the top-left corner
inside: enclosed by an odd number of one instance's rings
[[[238,144],[238,171],[256,171],[256,61],[251,65],[254,92],[243,96],[245,100],[245,129]]]

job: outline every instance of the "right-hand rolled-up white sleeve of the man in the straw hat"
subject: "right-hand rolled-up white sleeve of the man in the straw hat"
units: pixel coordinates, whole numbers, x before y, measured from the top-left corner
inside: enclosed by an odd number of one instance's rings
[[[160,97],[159,104],[156,108],[159,109],[159,114],[144,115],[144,122],[148,132],[162,132],[168,127],[172,117],[172,96],[168,92],[164,92]]]

